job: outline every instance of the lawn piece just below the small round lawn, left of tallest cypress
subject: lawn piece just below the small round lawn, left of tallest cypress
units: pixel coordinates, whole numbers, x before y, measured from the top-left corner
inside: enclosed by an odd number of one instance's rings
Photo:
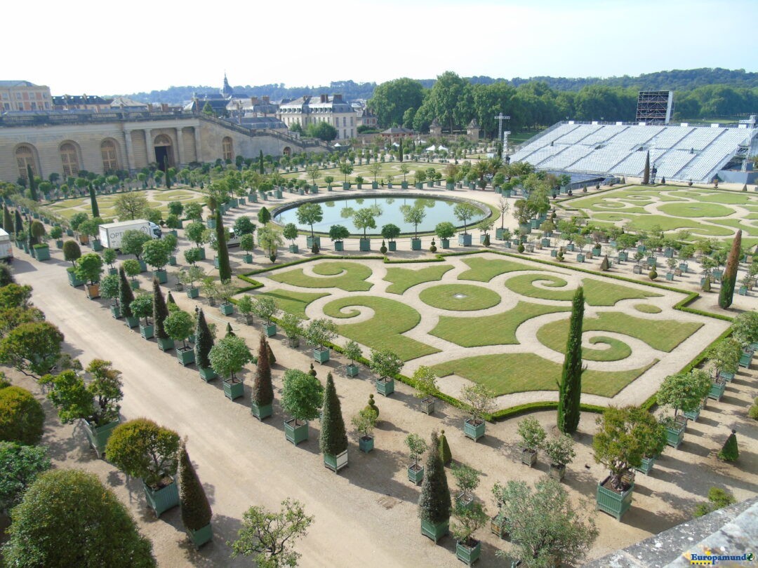
[[[570,306],[547,306],[519,301],[512,309],[502,314],[484,317],[441,316],[437,326],[430,333],[461,347],[513,345],[518,343],[516,329],[526,320],[570,309]]]

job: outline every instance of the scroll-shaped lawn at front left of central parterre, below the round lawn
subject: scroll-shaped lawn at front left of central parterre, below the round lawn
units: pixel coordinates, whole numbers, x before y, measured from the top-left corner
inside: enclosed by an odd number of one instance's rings
[[[355,339],[373,349],[391,349],[402,360],[411,360],[423,355],[437,353],[439,349],[415,339],[400,335],[418,326],[421,314],[400,301],[375,296],[352,296],[330,301],[324,306],[324,314],[330,317],[356,317],[354,306],[365,306],[374,311],[374,317],[362,323],[343,323],[338,326],[340,335]],[[345,311],[341,311],[346,308]]]

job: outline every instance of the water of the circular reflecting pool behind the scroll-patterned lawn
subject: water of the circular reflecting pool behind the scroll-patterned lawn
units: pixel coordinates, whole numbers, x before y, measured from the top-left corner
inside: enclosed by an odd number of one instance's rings
[[[351,197],[351,198],[326,198],[318,199],[321,205],[321,211],[324,218],[320,223],[314,223],[313,230],[318,233],[329,233],[332,225],[343,225],[350,233],[354,235],[363,234],[363,230],[356,229],[352,224],[352,214],[362,208],[374,208],[376,215],[377,228],[368,229],[368,234],[377,234],[381,227],[388,223],[399,226],[402,233],[413,233],[414,227],[411,223],[403,220],[402,206],[419,207],[424,211],[424,218],[418,223],[418,233],[432,233],[437,223],[449,221],[456,226],[463,226],[463,223],[456,219],[453,209],[462,201],[454,201],[443,198],[415,197],[413,195],[371,195],[370,197]],[[471,203],[471,201],[468,201]],[[285,208],[274,211],[274,221],[281,225],[295,223],[299,229],[310,230],[310,226],[301,225],[297,222],[297,207],[299,204],[292,204]],[[490,215],[490,210],[484,204],[475,204],[476,213],[474,217],[466,223],[469,227],[478,223],[484,217]]]

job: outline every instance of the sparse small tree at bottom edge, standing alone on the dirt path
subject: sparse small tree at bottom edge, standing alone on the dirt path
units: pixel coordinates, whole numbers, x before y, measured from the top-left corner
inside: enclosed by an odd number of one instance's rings
[[[300,557],[294,541],[305,536],[313,517],[308,517],[299,501],[285,499],[281,510],[272,513],[265,507],[253,506],[243,515],[243,526],[230,544],[232,557],[252,556],[259,568],[297,566]]]

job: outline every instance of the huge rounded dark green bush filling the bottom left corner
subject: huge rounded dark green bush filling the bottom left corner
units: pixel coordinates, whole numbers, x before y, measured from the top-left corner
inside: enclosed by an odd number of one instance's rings
[[[4,551],[7,566],[158,566],[149,539],[92,473],[42,473],[12,519]]]

